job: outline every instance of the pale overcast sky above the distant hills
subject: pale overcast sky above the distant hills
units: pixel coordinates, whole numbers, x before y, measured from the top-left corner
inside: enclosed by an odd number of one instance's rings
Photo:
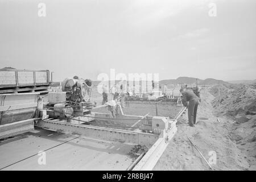
[[[110,68],[160,80],[255,79],[255,10],[255,0],[0,0],[0,66],[49,69],[55,81],[96,80]]]

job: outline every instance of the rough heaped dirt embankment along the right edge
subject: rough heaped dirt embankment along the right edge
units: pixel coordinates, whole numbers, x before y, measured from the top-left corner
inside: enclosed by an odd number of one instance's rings
[[[210,89],[213,92],[215,88]],[[256,84],[227,89],[222,102],[214,100],[214,114],[232,120],[229,135],[245,154],[248,169],[256,169]]]

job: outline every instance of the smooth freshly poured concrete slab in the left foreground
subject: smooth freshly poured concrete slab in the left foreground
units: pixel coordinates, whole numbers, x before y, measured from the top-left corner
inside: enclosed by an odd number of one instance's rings
[[[76,137],[39,129],[3,140],[0,143],[0,168],[20,160],[2,170],[125,170],[132,163],[128,153],[133,145]],[[71,141],[61,144],[68,140]],[[42,155],[35,155],[44,150],[47,150],[45,165],[38,163]]]

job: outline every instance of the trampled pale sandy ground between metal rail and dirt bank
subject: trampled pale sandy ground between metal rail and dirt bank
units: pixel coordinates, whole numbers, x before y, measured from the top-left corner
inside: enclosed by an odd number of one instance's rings
[[[237,144],[230,133],[233,132],[233,119],[220,117],[220,123],[214,115],[211,102],[215,99],[208,89],[201,90],[203,101],[199,105],[197,124],[187,125],[187,113],[177,123],[177,133],[167,146],[154,170],[209,170],[207,163],[189,142],[187,136],[199,148],[209,161],[216,152],[216,170],[255,170],[255,142],[249,147]],[[207,119],[208,118],[208,119]],[[207,120],[205,120],[207,119]],[[214,151],[214,152],[211,152]],[[253,152],[253,158],[248,153]]]

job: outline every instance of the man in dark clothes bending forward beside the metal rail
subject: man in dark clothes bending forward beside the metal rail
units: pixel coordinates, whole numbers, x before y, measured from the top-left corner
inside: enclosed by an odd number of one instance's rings
[[[188,123],[189,126],[194,126],[196,124],[196,113],[197,107],[199,105],[198,97],[191,90],[180,89],[180,92],[183,96],[182,104],[188,106]]]

